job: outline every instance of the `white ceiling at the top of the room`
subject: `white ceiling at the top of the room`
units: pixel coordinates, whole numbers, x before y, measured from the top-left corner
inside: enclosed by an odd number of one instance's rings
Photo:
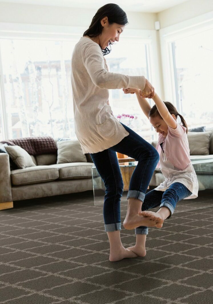
[[[36,5],[52,5],[63,7],[74,7],[83,9],[99,9],[106,3],[114,3],[120,5],[124,11],[129,12],[160,12],[177,4],[186,2],[188,0],[3,0],[0,2],[13,2]]]

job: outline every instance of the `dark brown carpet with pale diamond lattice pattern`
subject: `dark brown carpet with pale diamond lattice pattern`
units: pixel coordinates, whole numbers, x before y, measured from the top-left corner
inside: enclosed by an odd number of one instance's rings
[[[118,262],[93,192],[14,202],[0,212],[0,303],[213,303],[212,194],[178,203],[145,257]],[[123,245],[135,239],[122,226]]]

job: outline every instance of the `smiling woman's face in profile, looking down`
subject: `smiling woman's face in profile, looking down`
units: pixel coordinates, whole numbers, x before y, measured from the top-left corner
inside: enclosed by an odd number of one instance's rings
[[[106,47],[109,47],[110,42],[119,41],[120,34],[124,31],[124,26],[117,23],[109,24],[107,17],[101,20],[101,25],[103,29],[98,38],[99,45],[104,50]]]

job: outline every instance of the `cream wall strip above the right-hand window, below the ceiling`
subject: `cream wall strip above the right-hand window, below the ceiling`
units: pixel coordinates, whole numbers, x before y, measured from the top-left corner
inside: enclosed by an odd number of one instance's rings
[[[213,0],[189,0],[157,13],[160,27],[164,28],[181,21],[213,11]]]

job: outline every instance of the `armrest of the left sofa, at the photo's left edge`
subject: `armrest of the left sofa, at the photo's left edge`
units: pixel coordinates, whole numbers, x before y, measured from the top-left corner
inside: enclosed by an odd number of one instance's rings
[[[10,162],[7,153],[0,153],[0,203],[12,202]]]

